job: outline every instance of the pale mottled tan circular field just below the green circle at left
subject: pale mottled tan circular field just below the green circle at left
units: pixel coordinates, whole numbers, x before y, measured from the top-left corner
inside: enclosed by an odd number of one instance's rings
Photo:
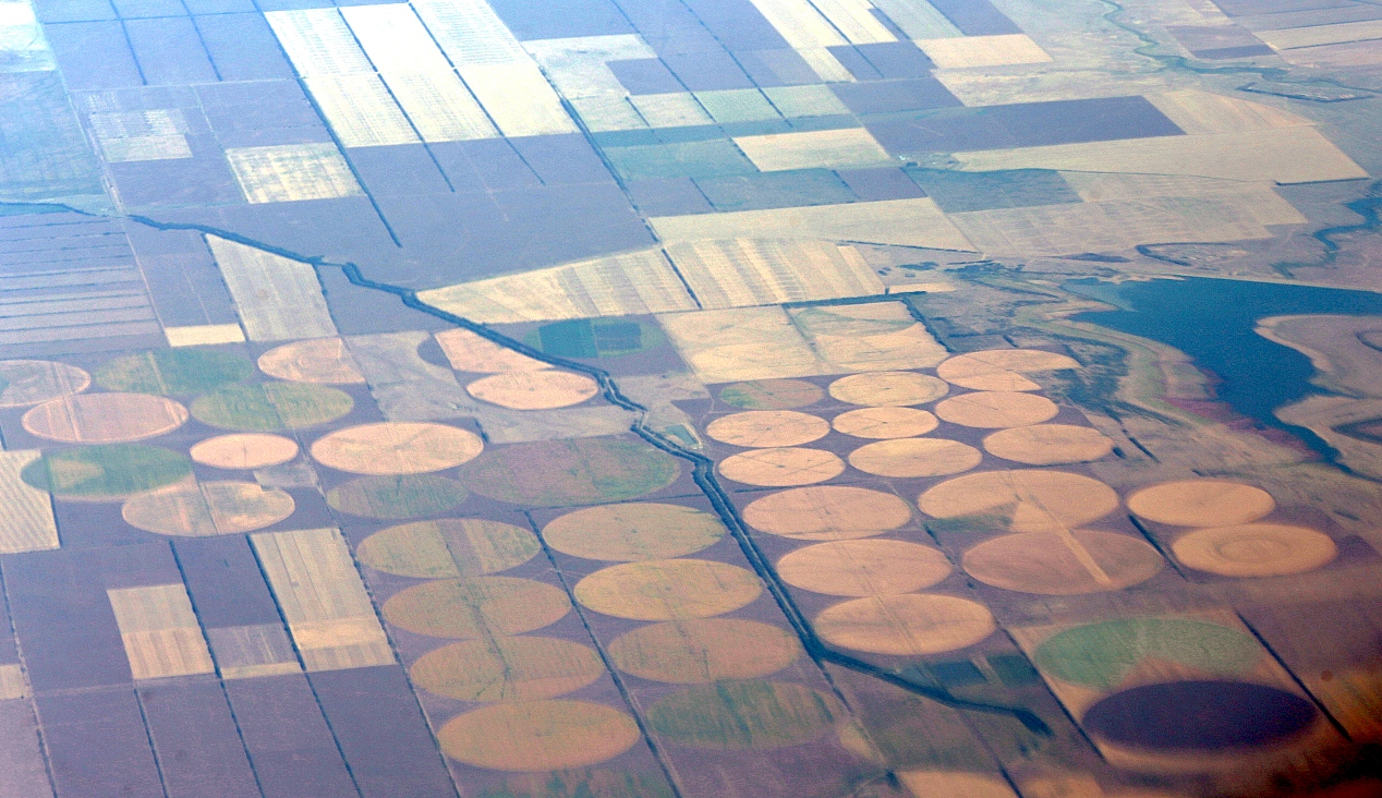
[[[293,514],[293,497],[254,483],[182,481],[135,494],[120,508],[131,527],[160,535],[205,538],[271,527]]]

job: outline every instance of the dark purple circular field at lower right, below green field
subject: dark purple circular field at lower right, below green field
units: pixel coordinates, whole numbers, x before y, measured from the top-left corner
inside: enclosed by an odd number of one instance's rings
[[[1282,743],[1314,719],[1310,701],[1277,687],[1186,680],[1114,693],[1085,712],[1083,725],[1121,745],[1208,752]]]

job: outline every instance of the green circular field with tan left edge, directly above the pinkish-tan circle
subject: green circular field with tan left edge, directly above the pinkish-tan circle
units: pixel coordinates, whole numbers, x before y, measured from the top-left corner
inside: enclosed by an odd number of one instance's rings
[[[111,391],[191,396],[249,379],[254,364],[239,354],[203,347],[160,349],[116,358],[95,372]]]

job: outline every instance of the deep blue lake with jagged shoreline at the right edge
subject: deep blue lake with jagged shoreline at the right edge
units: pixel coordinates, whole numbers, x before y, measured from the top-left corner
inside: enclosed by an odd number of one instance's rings
[[[1303,427],[1281,423],[1274,412],[1312,393],[1310,358],[1256,332],[1271,315],[1382,315],[1382,295],[1363,290],[1248,282],[1238,279],[1154,279],[1119,285],[1074,281],[1067,290],[1117,306],[1082,313],[1075,321],[1147,337],[1179,349],[1222,380],[1219,398],[1263,425],[1288,430],[1334,459],[1334,448]]]

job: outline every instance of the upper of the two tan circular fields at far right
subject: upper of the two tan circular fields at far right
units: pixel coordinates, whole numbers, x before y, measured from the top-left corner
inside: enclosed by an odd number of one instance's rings
[[[1267,491],[1227,480],[1161,483],[1128,497],[1128,509],[1133,513],[1176,527],[1247,524],[1276,508]]]

